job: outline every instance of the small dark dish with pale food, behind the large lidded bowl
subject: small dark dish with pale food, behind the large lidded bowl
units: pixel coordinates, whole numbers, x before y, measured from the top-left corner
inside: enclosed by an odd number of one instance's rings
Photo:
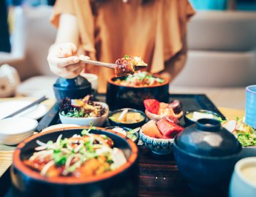
[[[193,113],[194,112],[198,112],[198,113],[204,113],[206,115],[212,115],[213,117],[202,117],[202,118],[209,118],[209,119],[216,119],[218,120],[219,117],[221,117],[219,114],[215,113],[215,112],[211,112],[209,110],[206,109],[199,109],[199,110],[189,110],[184,112],[184,120],[186,125],[192,125],[196,122],[196,120],[192,119]],[[191,116],[191,117],[189,117]]]

